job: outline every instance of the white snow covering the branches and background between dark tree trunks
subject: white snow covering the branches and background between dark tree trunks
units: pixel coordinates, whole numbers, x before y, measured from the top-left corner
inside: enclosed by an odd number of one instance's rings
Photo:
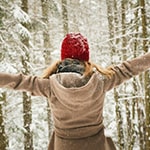
[[[5,16],[2,18],[3,26],[0,23],[1,72],[20,73],[23,70],[21,57],[23,56],[25,58],[25,52],[29,53],[30,62],[27,62],[27,64],[30,68],[30,73],[33,75],[40,76],[45,67],[50,65],[45,64],[45,58],[43,56],[45,49],[51,52],[51,60],[49,60],[49,63],[60,59],[61,41],[64,37],[60,0],[55,1],[57,9],[53,10],[57,15],[49,13],[49,24],[43,22],[40,1],[35,2],[31,0],[28,2],[29,13],[27,14],[21,9],[19,0],[14,0],[13,2],[6,0],[0,1],[0,8],[5,12]],[[132,59],[135,53],[136,55],[143,54],[142,44],[144,39],[141,38],[140,7],[131,6],[132,4],[135,6],[137,1],[133,0],[130,3],[126,3],[126,29],[124,35],[122,35],[121,24],[121,1],[116,2],[119,23],[116,26],[113,22],[114,37],[111,38],[109,34],[106,1],[80,0],[78,6],[67,7],[69,32],[81,32],[87,37],[90,45],[90,61],[104,68],[111,65],[111,63],[121,63],[123,61],[124,49],[126,49],[124,56],[127,59]],[[148,1],[146,3],[146,10],[149,15],[150,5],[148,5]],[[139,16],[135,19],[135,12],[137,10],[139,10]],[[109,15],[113,17],[116,10],[112,8],[111,11],[112,13]],[[28,24],[29,29],[23,26],[23,24]],[[136,30],[137,26],[138,30]],[[115,31],[116,27],[118,29],[117,31]],[[50,38],[50,47],[48,48],[43,46],[43,32],[45,31]],[[147,31],[149,34],[149,26],[147,26]],[[122,47],[123,37],[126,39],[125,47]],[[23,38],[29,39],[29,48],[22,44],[21,39]],[[149,38],[145,39],[150,40]],[[115,49],[114,52],[112,48]],[[150,52],[150,48],[148,50]],[[136,90],[133,82],[135,82]],[[121,129],[125,137],[125,143],[131,142],[128,139],[132,138],[128,135],[128,126],[132,124],[134,126],[132,136],[136,136],[133,150],[139,150],[139,129],[142,132],[144,131],[143,126],[140,127],[139,125],[144,123],[146,118],[143,74],[135,77],[135,81],[131,79],[126,84],[117,87],[116,91],[119,101],[117,104],[113,90],[109,91],[106,95],[103,113],[105,134],[106,136],[112,137],[118,147],[117,127],[119,123],[122,122]],[[0,105],[3,106],[5,131],[9,141],[7,150],[22,150],[24,147],[24,133],[26,132],[23,127],[22,93],[0,89],[0,97],[2,97],[3,92],[7,93],[6,101],[0,101]],[[47,100],[42,97],[31,97],[31,99],[32,123],[30,124],[30,129],[33,134],[34,150],[45,150],[49,142]],[[133,102],[135,102],[134,105]],[[116,112],[117,106],[121,112],[121,118],[119,120],[117,120],[117,114],[119,113]],[[134,109],[135,112],[133,112]],[[129,120],[127,120],[127,117],[129,117]]]

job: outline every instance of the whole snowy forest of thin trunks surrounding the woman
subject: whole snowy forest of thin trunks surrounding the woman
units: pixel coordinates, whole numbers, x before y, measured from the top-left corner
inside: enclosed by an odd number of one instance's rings
[[[0,71],[40,76],[70,32],[104,68],[140,56],[150,51],[150,1],[0,0]],[[150,150],[150,72],[108,92],[103,116],[118,150]],[[0,150],[46,150],[52,128],[45,98],[0,89]]]

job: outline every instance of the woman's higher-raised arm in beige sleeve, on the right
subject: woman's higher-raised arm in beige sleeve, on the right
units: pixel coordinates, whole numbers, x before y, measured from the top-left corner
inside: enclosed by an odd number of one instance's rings
[[[124,81],[130,79],[135,75],[146,71],[150,68],[150,53],[134,58],[129,61],[124,61],[121,65],[114,66],[114,74],[112,77],[104,79],[104,91],[120,85]]]

